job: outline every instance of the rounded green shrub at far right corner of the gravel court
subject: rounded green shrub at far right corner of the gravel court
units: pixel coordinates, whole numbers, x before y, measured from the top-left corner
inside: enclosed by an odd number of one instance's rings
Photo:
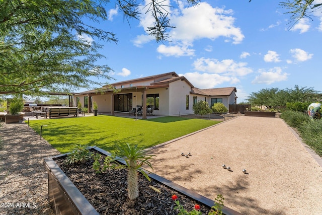
[[[310,118],[307,114],[299,112],[287,110],[281,114],[281,118],[291,127],[299,128],[304,122],[310,121]]]

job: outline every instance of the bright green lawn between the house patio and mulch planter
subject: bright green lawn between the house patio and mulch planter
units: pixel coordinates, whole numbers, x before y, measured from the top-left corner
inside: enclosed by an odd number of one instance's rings
[[[115,116],[89,116],[30,120],[29,125],[61,153],[70,152],[75,145],[97,146],[113,152],[117,144],[128,142],[151,147],[183,136],[220,121],[159,117],[147,120]]]

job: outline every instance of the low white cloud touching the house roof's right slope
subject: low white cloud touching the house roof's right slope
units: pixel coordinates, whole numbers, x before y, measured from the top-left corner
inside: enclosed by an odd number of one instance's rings
[[[199,73],[195,71],[194,73],[180,74],[186,77],[191,83],[200,89],[214,88],[224,82],[229,82],[230,84],[236,84],[239,80],[235,77],[220,76],[218,74],[209,73]]]

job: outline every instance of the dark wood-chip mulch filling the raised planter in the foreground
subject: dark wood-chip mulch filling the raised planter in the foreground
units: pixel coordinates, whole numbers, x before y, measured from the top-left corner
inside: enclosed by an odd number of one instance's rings
[[[103,159],[104,156],[101,161]],[[153,179],[149,182],[142,175],[139,175],[139,197],[130,201],[127,197],[126,170],[114,169],[96,174],[92,168],[93,162],[73,166],[60,159],[56,163],[100,214],[178,214],[174,209],[176,203],[171,198],[173,194],[179,197],[181,205],[188,211],[198,203]],[[161,193],[149,186],[159,189]],[[210,208],[200,206],[202,213],[208,214]]]

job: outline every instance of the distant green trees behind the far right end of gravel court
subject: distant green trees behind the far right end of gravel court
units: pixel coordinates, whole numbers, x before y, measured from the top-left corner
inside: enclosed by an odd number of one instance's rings
[[[313,88],[295,85],[293,89],[262,89],[259,92],[251,93],[247,100],[252,105],[264,105],[271,109],[285,107],[287,103],[310,103],[321,101],[321,99],[322,95]]]

